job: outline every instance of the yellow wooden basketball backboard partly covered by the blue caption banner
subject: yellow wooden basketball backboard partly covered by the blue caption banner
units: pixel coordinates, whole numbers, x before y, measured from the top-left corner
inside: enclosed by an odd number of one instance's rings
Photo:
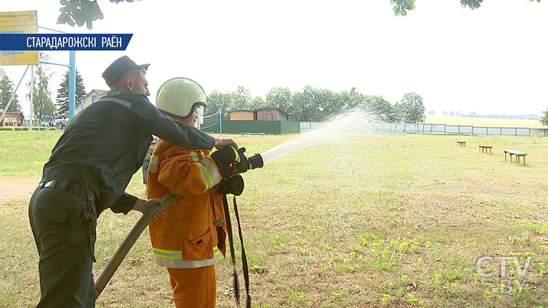
[[[0,34],[36,34],[36,11],[0,12]],[[0,66],[38,65],[38,51],[0,51]]]

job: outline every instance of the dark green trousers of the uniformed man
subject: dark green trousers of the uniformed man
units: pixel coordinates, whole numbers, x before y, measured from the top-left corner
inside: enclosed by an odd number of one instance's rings
[[[40,255],[42,297],[37,307],[95,306],[90,253],[95,236],[90,239],[82,220],[87,208],[86,198],[71,192],[40,187],[34,191],[29,218]]]

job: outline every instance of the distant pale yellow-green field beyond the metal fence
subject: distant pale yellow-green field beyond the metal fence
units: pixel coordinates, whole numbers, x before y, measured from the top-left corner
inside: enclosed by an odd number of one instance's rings
[[[529,127],[546,129],[539,120],[515,118],[472,118],[469,116],[426,116],[425,123],[447,125],[472,125],[476,127]]]

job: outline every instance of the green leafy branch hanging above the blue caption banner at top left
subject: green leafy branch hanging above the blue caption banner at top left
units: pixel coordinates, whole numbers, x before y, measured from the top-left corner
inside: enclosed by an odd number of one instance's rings
[[[110,0],[110,2],[119,3],[124,0]],[[135,0],[125,0],[126,2],[134,2]],[[88,29],[92,28],[93,21],[103,19],[103,12],[97,4],[97,0],[61,0],[61,14],[57,18],[59,24],[69,24],[71,27],[78,25],[82,27],[86,24]]]

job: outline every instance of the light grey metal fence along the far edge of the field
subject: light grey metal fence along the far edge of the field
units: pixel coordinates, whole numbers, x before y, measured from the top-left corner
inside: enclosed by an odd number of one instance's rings
[[[301,122],[301,131],[314,130],[320,125],[321,122]],[[548,136],[548,129],[426,123],[379,123],[374,131],[377,133],[423,133],[470,136]]]

